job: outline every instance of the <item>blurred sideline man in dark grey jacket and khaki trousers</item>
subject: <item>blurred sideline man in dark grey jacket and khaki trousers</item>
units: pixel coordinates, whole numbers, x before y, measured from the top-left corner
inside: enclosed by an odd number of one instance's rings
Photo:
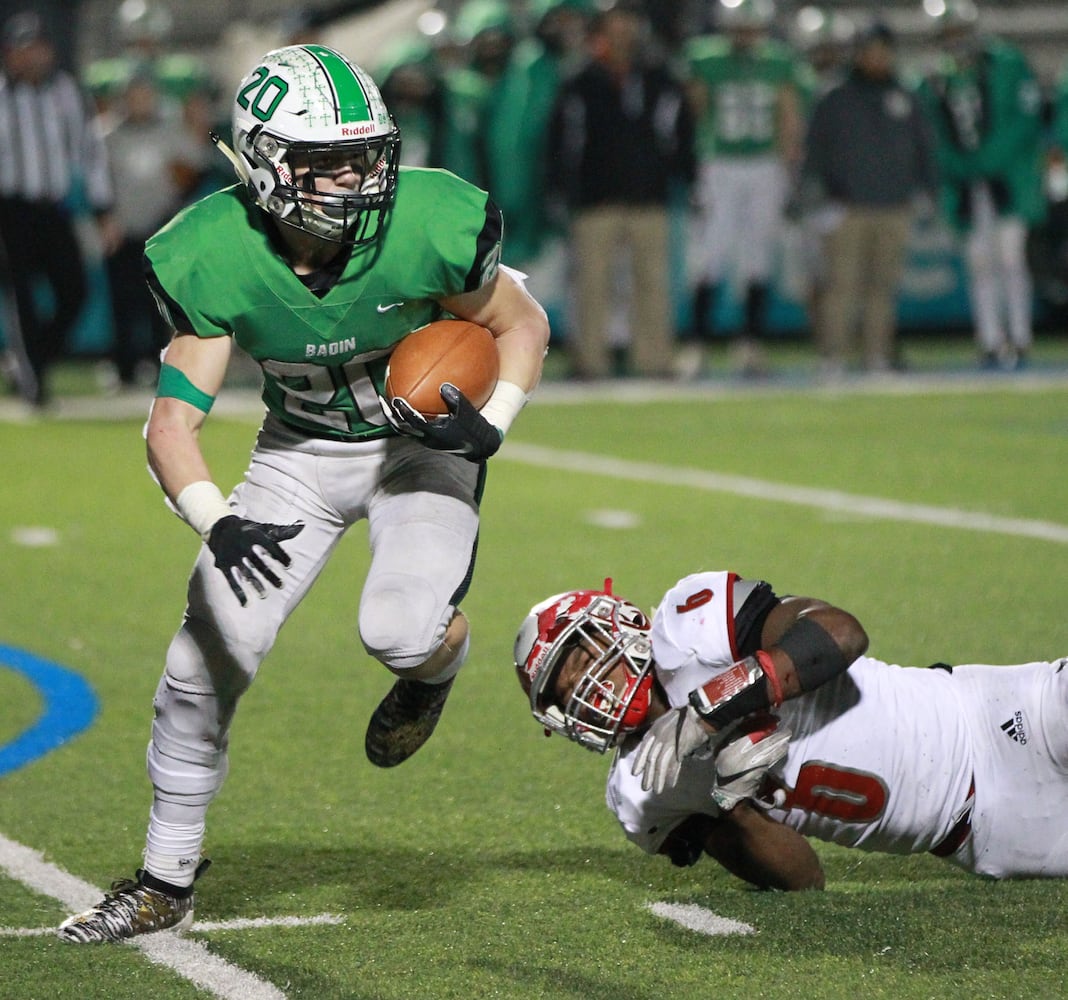
[[[863,363],[894,368],[896,294],[917,197],[937,187],[933,144],[915,95],[896,73],[883,25],[858,41],[850,74],[816,104],[805,140],[803,197],[824,220],[827,292],[816,342],[842,371],[860,319]]]

